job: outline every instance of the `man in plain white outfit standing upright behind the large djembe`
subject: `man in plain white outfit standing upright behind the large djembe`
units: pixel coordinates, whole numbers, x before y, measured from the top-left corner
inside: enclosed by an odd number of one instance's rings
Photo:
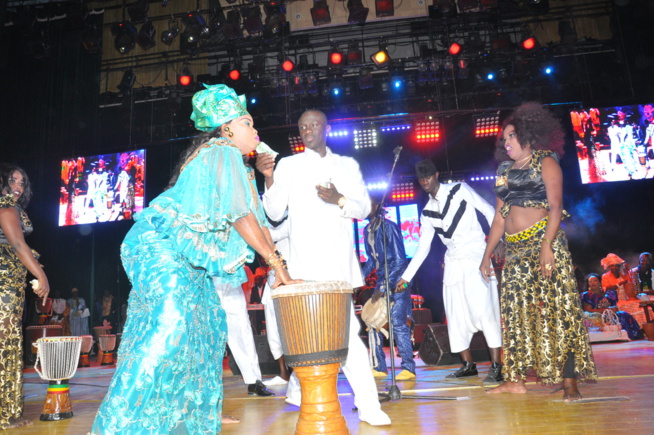
[[[272,220],[288,212],[288,270],[299,279],[346,281],[363,285],[359,261],[354,255],[352,219],[365,219],[370,199],[358,163],[334,154],[327,147],[331,130],[327,117],[308,110],[298,121],[306,147],[301,154],[283,158],[273,172],[272,156],[260,155],[257,169],[265,177],[263,205]],[[368,351],[358,335],[360,325],[351,305],[348,356],[343,372],[354,391],[359,419],[373,426],[387,425],[390,418],[381,410],[377,386],[368,363]],[[301,391],[291,376],[287,402],[299,406]]]

